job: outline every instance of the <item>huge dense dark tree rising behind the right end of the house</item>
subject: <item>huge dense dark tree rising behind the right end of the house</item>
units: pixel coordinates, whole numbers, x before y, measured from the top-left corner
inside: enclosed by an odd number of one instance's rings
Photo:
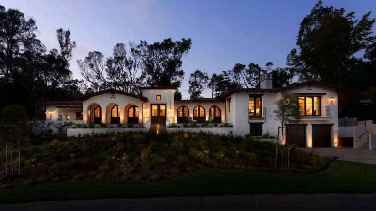
[[[297,49],[292,49],[287,64],[300,81],[319,79],[345,85],[349,70],[356,63],[355,54],[376,40],[372,36],[375,19],[371,12],[355,20],[354,12],[324,7],[319,1],[300,23],[296,39]]]

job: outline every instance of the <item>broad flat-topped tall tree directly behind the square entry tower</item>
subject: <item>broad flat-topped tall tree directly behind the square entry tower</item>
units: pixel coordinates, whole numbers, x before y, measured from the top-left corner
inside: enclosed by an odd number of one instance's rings
[[[172,42],[171,38],[148,44],[140,41],[133,45],[132,53],[142,61],[143,76],[148,86],[180,87],[184,78],[182,57],[188,53],[190,38]]]

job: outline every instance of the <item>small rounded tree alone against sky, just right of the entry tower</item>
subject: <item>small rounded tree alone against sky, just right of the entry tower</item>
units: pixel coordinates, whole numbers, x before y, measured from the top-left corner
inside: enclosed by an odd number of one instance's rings
[[[203,73],[200,70],[194,71],[189,77],[189,89],[190,99],[201,97],[202,91],[206,88],[209,81],[207,73]]]

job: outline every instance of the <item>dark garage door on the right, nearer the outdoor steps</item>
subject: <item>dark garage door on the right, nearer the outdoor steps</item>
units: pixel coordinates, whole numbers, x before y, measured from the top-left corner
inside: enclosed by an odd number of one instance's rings
[[[331,147],[331,126],[312,124],[312,147]]]

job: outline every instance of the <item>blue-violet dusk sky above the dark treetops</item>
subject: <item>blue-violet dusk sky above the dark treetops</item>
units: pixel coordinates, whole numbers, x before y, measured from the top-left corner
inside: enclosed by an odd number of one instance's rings
[[[355,11],[356,18],[372,11],[376,0],[324,0],[324,5]],[[235,63],[268,61],[285,66],[295,47],[300,21],[317,0],[2,0],[37,21],[37,37],[47,50],[57,48],[56,29],[70,29],[77,42],[71,61],[73,77],[81,79],[76,60],[89,51],[112,55],[118,42],[191,38],[183,58],[186,75],[180,90],[188,98],[189,74],[196,69],[220,73]],[[374,25],[373,31],[376,31]],[[204,97],[211,97],[206,90]]]

